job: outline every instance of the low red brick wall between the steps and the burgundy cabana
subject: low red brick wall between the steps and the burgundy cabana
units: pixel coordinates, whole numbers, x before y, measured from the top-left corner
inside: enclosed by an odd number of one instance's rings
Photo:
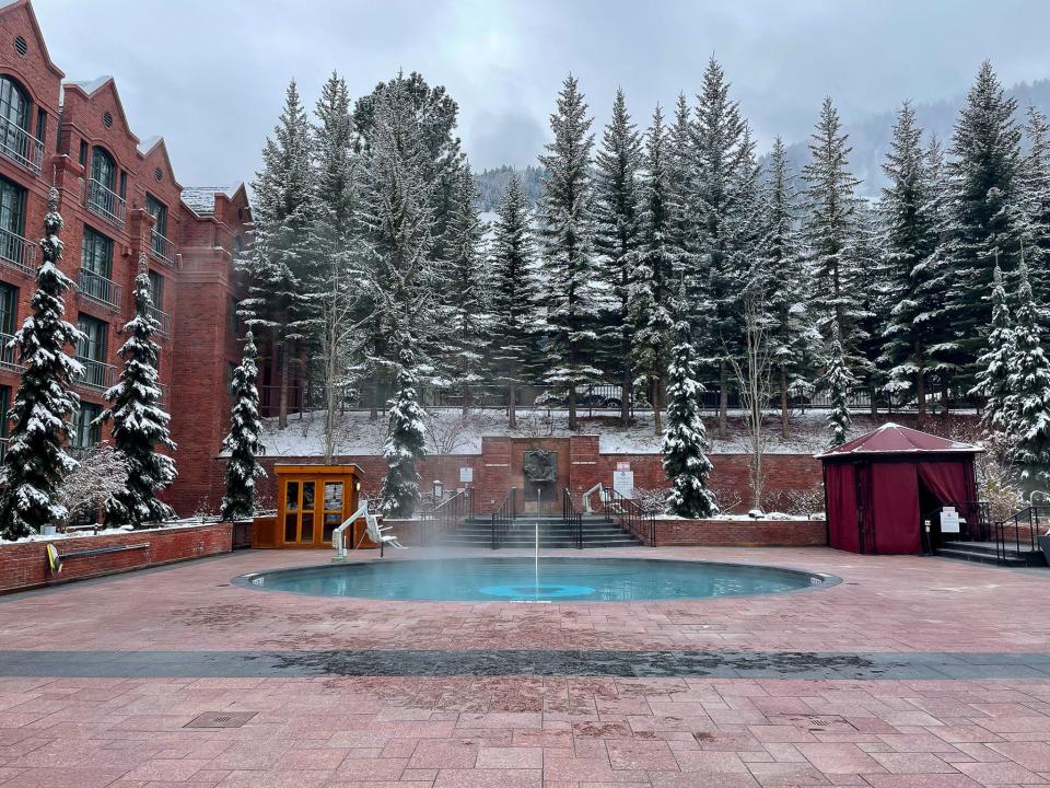
[[[828,544],[822,520],[657,520],[656,546],[812,547]]]

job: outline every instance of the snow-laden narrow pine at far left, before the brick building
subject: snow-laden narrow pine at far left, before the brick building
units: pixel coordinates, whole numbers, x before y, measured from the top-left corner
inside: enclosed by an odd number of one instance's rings
[[[3,414],[11,421],[0,500],[0,536],[7,540],[39,533],[45,525],[66,520],[66,507],[56,494],[62,477],[77,467],[62,449],[72,436],[69,418],[80,403],[70,383],[81,367],[66,352],[80,332],[63,320],[63,296],[73,282],[59,270],[61,230],[58,190],[52,188],[44,217],[36,290],[30,300],[33,314],[12,340],[23,370],[14,407]]]

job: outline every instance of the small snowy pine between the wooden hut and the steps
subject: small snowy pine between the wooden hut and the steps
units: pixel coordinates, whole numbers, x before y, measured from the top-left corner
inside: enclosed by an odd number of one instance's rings
[[[416,390],[416,354],[411,339],[401,338],[394,398],[387,404],[390,412],[383,456],[387,472],[380,493],[380,509],[390,518],[407,518],[416,512],[419,503],[419,471],[416,463],[425,453],[427,414],[419,405]]]

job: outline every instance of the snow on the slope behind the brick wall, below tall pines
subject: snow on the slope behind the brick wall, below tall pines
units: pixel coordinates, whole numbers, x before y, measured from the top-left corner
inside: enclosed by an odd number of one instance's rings
[[[564,410],[521,409],[516,430],[506,427],[506,414],[502,410],[471,410],[464,416],[456,408],[434,408],[428,413],[427,452],[429,454],[480,454],[481,437],[514,438],[568,438],[572,434],[596,434],[604,454],[656,454],[661,438],[653,429],[653,415],[639,413],[629,427],[619,424],[617,415],[609,410],[586,409],[581,412],[580,430],[570,432]],[[724,439],[716,436],[716,421],[708,415],[704,424],[711,454],[750,453],[750,439],[738,413],[730,414],[730,429]],[[827,442],[824,410],[809,410],[792,416],[792,434],[788,440],[780,437],[780,422],[770,417],[768,425],[769,454],[816,454]],[[888,420],[901,420],[894,416],[854,417],[849,438],[864,434]],[[279,430],[277,419],[264,419],[262,440],[266,456],[317,456],[324,453],[325,418],[323,412],[289,416],[288,428]],[[336,428],[336,454],[378,455],[383,453],[386,438],[386,417],[380,414],[369,419],[368,412],[353,410],[342,414]],[[935,428],[931,428],[936,431]]]

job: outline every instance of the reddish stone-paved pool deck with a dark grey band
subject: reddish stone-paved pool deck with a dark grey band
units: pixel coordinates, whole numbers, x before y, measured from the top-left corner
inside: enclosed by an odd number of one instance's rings
[[[2,596],[0,786],[1050,785],[1050,570],[824,548],[583,554],[842,582],[551,604],[231,584],[329,558],[269,551]],[[436,555],[471,553],[385,560]],[[186,727],[206,712],[247,719]]]

